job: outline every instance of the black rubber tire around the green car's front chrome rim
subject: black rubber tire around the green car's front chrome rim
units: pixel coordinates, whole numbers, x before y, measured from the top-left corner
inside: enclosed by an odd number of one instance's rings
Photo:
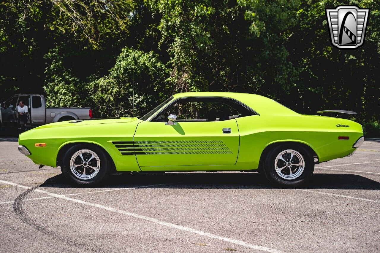
[[[73,172],[70,168],[70,160],[73,155],[78,152],[79,150],[91,150],[94,152],[98,158],[100,159],[100,169],[96,176],[92,177],[91,179],[79,179],[78,177],[74,176]],[[106,155],[105,151],[94,144],[77,144],[71,147],[67,150],[66,154],[63,156],[62,164],[61,164],[61,171],[63,173],[63,176],[70,182],[77,186],[85,186],[85,187],[93,187],[96,185],[101,184],[102,182],[105,182],[110,172],[112,172],[113,163],[111,161],[111,158]]]

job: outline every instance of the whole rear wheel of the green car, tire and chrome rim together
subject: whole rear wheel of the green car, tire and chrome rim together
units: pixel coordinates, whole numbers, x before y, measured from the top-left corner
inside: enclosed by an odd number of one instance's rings
[[[266,155],[262,168],[269,182],[279,187],[298,187],[314,171],[313,156],[298,144],[282,144]]]

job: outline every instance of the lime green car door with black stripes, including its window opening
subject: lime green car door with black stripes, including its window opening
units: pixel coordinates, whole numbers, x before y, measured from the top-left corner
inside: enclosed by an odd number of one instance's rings
[[[155,120],[139,123],[134,143],[123,148],[135,153],[141,170],[148,166],[184,166],[180,169],[186,170],[185,166],[235,164],[239,152],[236,119],[230,119],[222,103],[209,103],[194,98],[173,102]],[[178,117],[173,125],[166,119],[171,112]],[[217,114],[223,114],[223,120]]]

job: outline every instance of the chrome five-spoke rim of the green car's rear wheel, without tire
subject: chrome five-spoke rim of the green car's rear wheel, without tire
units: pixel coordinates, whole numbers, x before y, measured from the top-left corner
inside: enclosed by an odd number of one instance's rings
[[[305,160],[296,150],[283,150],[275,158],[274,168],[277,174],[283,179],[296,179],[301,176],[304,171]]]

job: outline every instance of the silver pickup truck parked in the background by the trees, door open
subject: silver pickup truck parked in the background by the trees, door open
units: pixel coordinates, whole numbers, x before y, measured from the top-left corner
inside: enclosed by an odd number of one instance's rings
[[[46,101],[43,95],[16,94],[1,103],[1,126],[17,126],[17,105],[19,101],[22,101],[24,106],[28,108],[28,120],[25,123],[30,126],[40,126],[65,120],[92,118],[90,108],[46,108]]]

